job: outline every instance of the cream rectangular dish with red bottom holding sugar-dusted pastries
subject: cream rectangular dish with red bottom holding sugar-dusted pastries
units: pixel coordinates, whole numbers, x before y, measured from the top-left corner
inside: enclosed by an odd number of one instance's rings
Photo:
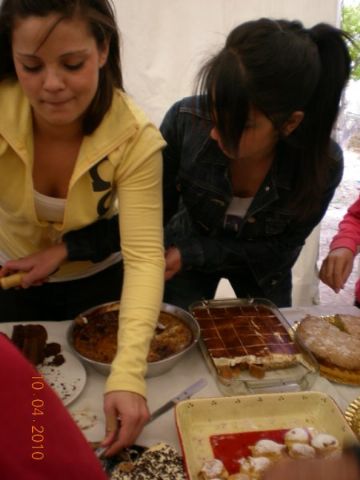
[[[275,462],[333,457],[356,442],[319,392],[190,399],[175,413],[189,480],[260,480]]]

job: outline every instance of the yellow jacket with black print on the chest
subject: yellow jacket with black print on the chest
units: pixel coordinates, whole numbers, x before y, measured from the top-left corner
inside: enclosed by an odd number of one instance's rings
[[[32,181],[32,114],[16,81],[0,83],[0,106],[0,251],[14,259],[29,255],[68,231],[111,217],[118,208],[125,278],[118,353],[106,391],[127,390],[145,396],[146,355],[164,282],[164,141],[131,99],[115,91],[100,126],[83,139],[63,223],[39,221]],[[68,262],[58,276],[81,274],[87,266],[87,262]]]

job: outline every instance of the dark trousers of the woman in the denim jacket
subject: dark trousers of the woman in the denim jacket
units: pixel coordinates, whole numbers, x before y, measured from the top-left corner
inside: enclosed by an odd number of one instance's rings
[[[195,270],[181,272],[165,283],[164,302],[172,303],[187,310],[198,300],[214,298],[221,278],[227,278],[238,298],[267,298],[278,307],[291,305],[291,287],[279,284],[266,294],[258,285],[253,275],[247,271],[206,273]]]

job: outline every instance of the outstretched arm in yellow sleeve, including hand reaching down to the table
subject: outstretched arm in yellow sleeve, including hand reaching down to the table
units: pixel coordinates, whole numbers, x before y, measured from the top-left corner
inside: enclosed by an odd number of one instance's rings
[[[118,350],[106,383],[108,455],[134,442],[147,419],[146,357],[164,286],[163,142],[153,127],[139,132],[116,172],[124,282]],[[120,418],[120,429],[115,433]]]

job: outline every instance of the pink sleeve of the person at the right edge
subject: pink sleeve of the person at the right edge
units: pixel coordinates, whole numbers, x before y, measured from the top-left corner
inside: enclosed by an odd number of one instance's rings
[[[354,254],[360,245],[360,197],[351,205],[339,223],[338,232],[332,239],[330,250],[349,248]]]

